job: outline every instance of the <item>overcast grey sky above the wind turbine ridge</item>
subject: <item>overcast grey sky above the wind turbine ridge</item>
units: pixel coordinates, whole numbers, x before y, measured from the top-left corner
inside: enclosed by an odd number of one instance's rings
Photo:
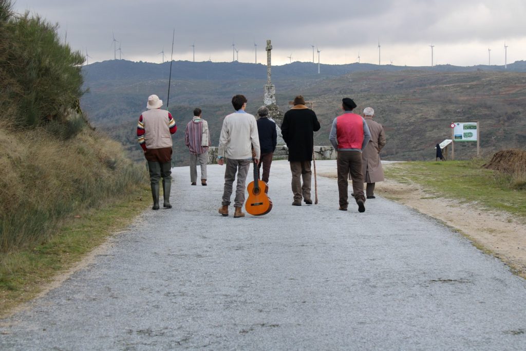
[[[39,14],[59,24],[67,42],[92,58],[114,58],[113,37],[122,58],[232,61],[232,42],[240,62],[272,64],[312,61],[312,46],[323,64],[360,62],[430,66],[504,64],[526,59],[524,0],[16,0],[15,11]],[[488,49],[491,49],[489,57]],[[238,56],[237,56],[238,55]],[[116,53],[117,58],[119,52]],[[317,54],[315,61],[318,61]]]

